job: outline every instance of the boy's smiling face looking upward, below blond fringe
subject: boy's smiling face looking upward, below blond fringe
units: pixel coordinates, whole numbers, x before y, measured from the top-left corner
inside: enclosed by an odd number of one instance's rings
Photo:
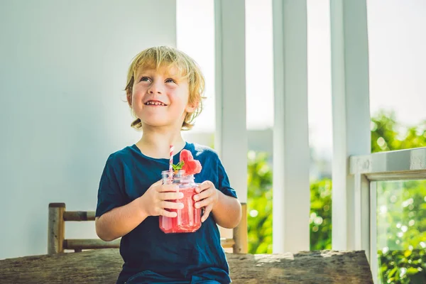
[[[188,82],[175,68],[139,70],[128,102],[143,126],[182,126],[188,105]]]

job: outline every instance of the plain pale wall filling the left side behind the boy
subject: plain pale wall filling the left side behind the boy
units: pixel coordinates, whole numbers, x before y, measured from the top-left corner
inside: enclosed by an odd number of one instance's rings
[[[109,153],[134,143],[124,101],[136,53],[175,45],[174,0],[3,0],[0,259],[47,253],[48,203],[93,210]],[[94,223],[67,224],[93,238]]]

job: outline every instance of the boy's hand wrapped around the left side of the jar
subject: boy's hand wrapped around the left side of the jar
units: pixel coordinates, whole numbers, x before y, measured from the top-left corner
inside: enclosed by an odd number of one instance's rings
[[[178,190],[178,185],[163,185],[161,180],[155,182],[141,197],[138,198],[142,211],[148,216],[178,216],[176,212],[166,210],[183,208],[182,203],[170,201],[180,200],[183,197],[183,193],[178,192]]]

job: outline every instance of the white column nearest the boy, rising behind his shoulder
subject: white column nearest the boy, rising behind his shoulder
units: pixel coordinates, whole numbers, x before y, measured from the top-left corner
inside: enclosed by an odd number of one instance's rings
[[[214,148],[241,202],[247,202],[244,0],[214,0],[216,133]]]

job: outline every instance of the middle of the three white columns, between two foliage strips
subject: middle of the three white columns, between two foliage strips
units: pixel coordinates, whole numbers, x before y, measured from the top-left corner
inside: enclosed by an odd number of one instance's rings
[[[310,249],[306,1],[273,0],[273,252]]]

